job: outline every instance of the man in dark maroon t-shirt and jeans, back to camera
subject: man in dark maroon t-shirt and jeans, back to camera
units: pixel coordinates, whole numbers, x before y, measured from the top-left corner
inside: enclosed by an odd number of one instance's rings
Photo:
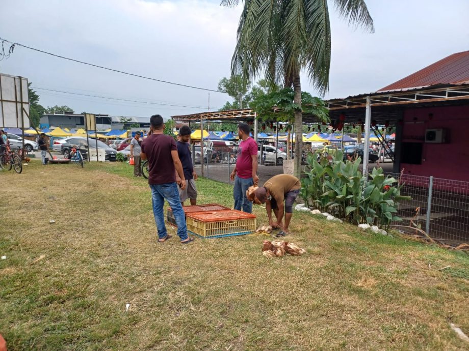
[[[165,226],[163,206],[165,199],[173,211],[177,224],[177,235],[182,244],[188,244],[194,239],[187,236],[186,217],[179,200],[176,184],[176,171],[181,179],[181,189],[186,187],[183,165],[177,156],[174,138],[163,134],[165,124],[163,117],[155,114],[150,117],[151,135],[142,141],[140,158],[148,159],[148,184],[151,189],[154,221],[157,224],[158,241],[164,243],[170,239]]]

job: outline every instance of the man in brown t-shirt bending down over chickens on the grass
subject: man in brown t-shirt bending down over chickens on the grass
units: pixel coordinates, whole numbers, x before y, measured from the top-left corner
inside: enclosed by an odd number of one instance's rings
[[[288,227],[293,216],[293,202],[298,197],[300,188],[301,183],[298,178],[290,176],[290,174],[277,174],[265,182],[263,187],[254,191],[258,200],[254,202],[266,204],[269,225],[282,229],[277,237],[289,235]],[[275,222],[272,220],[272,210],[274,210],[276,217]],[[283,212],[285,212],[285,225],[282,224]]]

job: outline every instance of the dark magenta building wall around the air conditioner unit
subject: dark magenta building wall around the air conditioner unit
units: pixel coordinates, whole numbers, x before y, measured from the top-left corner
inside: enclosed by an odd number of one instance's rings
[[[423,143],[422,164],[401,163],[404,174],[469,182],[469,106],[407,109],[403,123],[402,141]],[[426,143],[432,128],[447,129],[449,143]]]

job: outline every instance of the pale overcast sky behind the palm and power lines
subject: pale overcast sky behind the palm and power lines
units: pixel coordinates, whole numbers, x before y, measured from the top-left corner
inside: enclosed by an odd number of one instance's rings
[[[0,37],[135,74],[217,89],[230,74],[241,13],[220,1],[0,0]],[[330,3],[332,63],[325,98],[379,90],[440,58],[469,50],[469,0],[367,0],[376,33],[354,31]],[[150,116],[208,109],[207,92],[108,72],[16,47],[0,72],[35,87],[175,107],[37,90],[43,106]],[[302,90],[316,95],[306,75]],[[210,93],[210,108],[230,98]]]

